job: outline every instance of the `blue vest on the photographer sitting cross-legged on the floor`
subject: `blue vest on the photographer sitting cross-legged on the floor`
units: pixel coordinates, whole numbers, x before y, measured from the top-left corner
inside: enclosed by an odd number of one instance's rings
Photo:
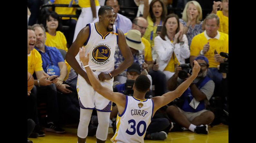
[[[207,83],[209,80],[211,80],[209,77],[205,76],[203,80],[199,81],[198,83],[195,83],[196,87],[200,90],[205,83]],[[188,89],[181,95],[181,98],[184,99],[184,103],[183,106],[181,107],[181,109],[185,112],[198,112],[201,111],[203,109],[205,109],[205,105],[204,105],[204,100],[200,101],[199,105],[197,106],[196,109],[192,108],[189,103],[191,102],[191,100],[193,99],[192,93],[190,88],[188,87]]]

